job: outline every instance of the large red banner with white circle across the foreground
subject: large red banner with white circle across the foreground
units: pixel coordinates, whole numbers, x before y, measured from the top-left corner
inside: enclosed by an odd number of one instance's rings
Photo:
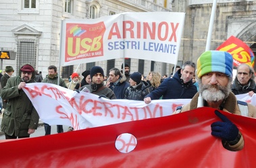
[[[182,114],[124,122],[109,126],[0,142],[1,165],[5,167],[256,167],[256,122],[222,112],[242,132],[244,149],[228,151],[211,136],[211,123],[219,120],[212,108]],[[118,136],[130,133],[133,143]],[[132,140],[135,142],[135,140]]]

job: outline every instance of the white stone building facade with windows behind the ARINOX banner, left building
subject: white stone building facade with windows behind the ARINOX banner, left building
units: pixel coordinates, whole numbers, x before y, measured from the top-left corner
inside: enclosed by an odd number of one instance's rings
[[[17,53],[16,60],[1,60],[1,69],[7,65],[19,69],[24,62],[30,62],[45,77],[49,65],[59,67],[61,19],[93,19],[129,11],[172,11],[172,3],[170,0],[3,0],[0,9],[0,49]],[[123,61],[117,59],[110,65],[121,68]],[[151,71],[151,60],[128,61],[131,71],[138,71],[138,62],[143,67],[142,73]],[[155,62],[154,70],[161,71],[161,64]],[[107,61],[100,61],[62,67],[60,73],[63,78],[68,78],[73,71],[82,73],[93,65],[99,65],[105,71],[110,67]]]

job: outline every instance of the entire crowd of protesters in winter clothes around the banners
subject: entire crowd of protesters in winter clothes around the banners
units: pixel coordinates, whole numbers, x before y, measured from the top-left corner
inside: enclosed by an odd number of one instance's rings
[[[211,61],[209,57],[211,57]],[[230,59],[230,62],[223,62],[223,60],[227,59]],[[197,60],[197,67],[192,61],[184,62],[181,67],[175,67],[176,69],[174,70],[173,68],[170,75],[164,74],[161,76],[160,73],[151,71],[145,76],[137,71],[130,73],[130,65],[127,63],[124,64],[124,67],[122,64],[121,69],[113,67],[106,73],[104,73],[101,67],[95,66],[91,70],[84,71],[82,79],[76,72],[70,75],[69,83],[59,78],[59,85],[78,93],[86,89],[90,93],[99,95],[99,98],[104,97],[109,100],[130,99],[145,101],[146,104],[151,103],[154,99],[192,99],[188,105],[177,108],[174,114],[197,108],[195,103],[199,101],[199,95],[201,94],[203,106],[213,107],[217,110],[226,109],[230,113],[241,114],[242,112],[239,109],[230,110],[231,108],[226,105],[227,102],[230,101],[231,103],[232,101],[234,103],[233,106],[237,108],[238,105],[236,105],[234,95],[249,93],[250,96],[253,96],[256,91],[255,72],[249,65],[241,64],[238,66],[236,77],[232,80],[232,56],[228,52],[204,52]],[[11,66],[5,68],[4,75],[0,73],[1,96],[3,98],[3,107],[1,106],[0,108],[1,112],[3,112],[4,120],[1,124],[1,130],[5,132],[6,138],[26,138],[36,129],[39,116],[36,115],[36,110],[34,110],[26,94],[22,93],[22,97],[20,97],[19,94],[16,94],[16,91],[20,93],[26,83],[43,82],[57,84],[57,67],[51,65],[48,68],[48,75],[44,79],[41,72],[39,73],[37,70],[34,70],[29,64],[20,69],[18,77],[12,77],[12,73],[14,73],[14,69]],[[16,88],[16,90],[12,88]],[[16,94],[18,98],[10,97],[10,94]],[[14,109],[16,103],[18,103],[16,99],[20,98],[22,98],[22,101],[28,101],[31,106],[29,110],[32,110],[28,115],[29,120],[26,121],[27,126],[22,128],[23,130],[16,127],[16,124],[22,124],[22,122],[13,122],[14,117],[20,115]],[[12,108],[7,108],[8,103],[12,103]],[[249,108],[247,116],[255,118],[255,107],[253,111],[251,105],[247,106]],[[217,110],[215,114],[223,120],[224,125],[222,124],[222,126],[224,128],[216,133],[215,128],[219,126],[219,123],[213,123],[211,133],[213,136],[222,139],[226,149],[239,151],[244,143],[242,133],[234,124],[227,122],[226,117],[217,112]],[[8,117],[8,120],[5,116]],[[34,122],[34,124],[30,124],[30,122]],[[61,125],[57,126],[57,132],[63,132]],[[51,126],[45,123],[45,135],[47,134],[51,134]],[[238,144],[237,148],[235,147],[236,144]]]

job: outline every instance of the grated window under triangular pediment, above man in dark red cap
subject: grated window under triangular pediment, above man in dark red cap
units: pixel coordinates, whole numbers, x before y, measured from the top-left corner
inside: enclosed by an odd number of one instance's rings
[[[34,39],[18,40],[16,61],[16,69],[20,69],[22,65],[27,63],[36,68],[36,42]]]

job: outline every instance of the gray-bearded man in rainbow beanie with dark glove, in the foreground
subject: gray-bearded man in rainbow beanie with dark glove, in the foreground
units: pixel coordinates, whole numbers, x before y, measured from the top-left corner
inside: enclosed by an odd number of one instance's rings
[[[236,96],[231,91],[232,65],[233,58],[228,52],[217,50],[203,52],[197,60],[199,92],[191,99],[190,103],[174,114],[204,106],[242,115],[243,112],[239,109]],[[255,118],[256,108],[249,103],[247,108],[247,116]],[[211,124],[211,134],[222,139],[225,149],[240,151],[244,146],[242,132],[217,110],[215,110],[215,114],[222,121]]]

